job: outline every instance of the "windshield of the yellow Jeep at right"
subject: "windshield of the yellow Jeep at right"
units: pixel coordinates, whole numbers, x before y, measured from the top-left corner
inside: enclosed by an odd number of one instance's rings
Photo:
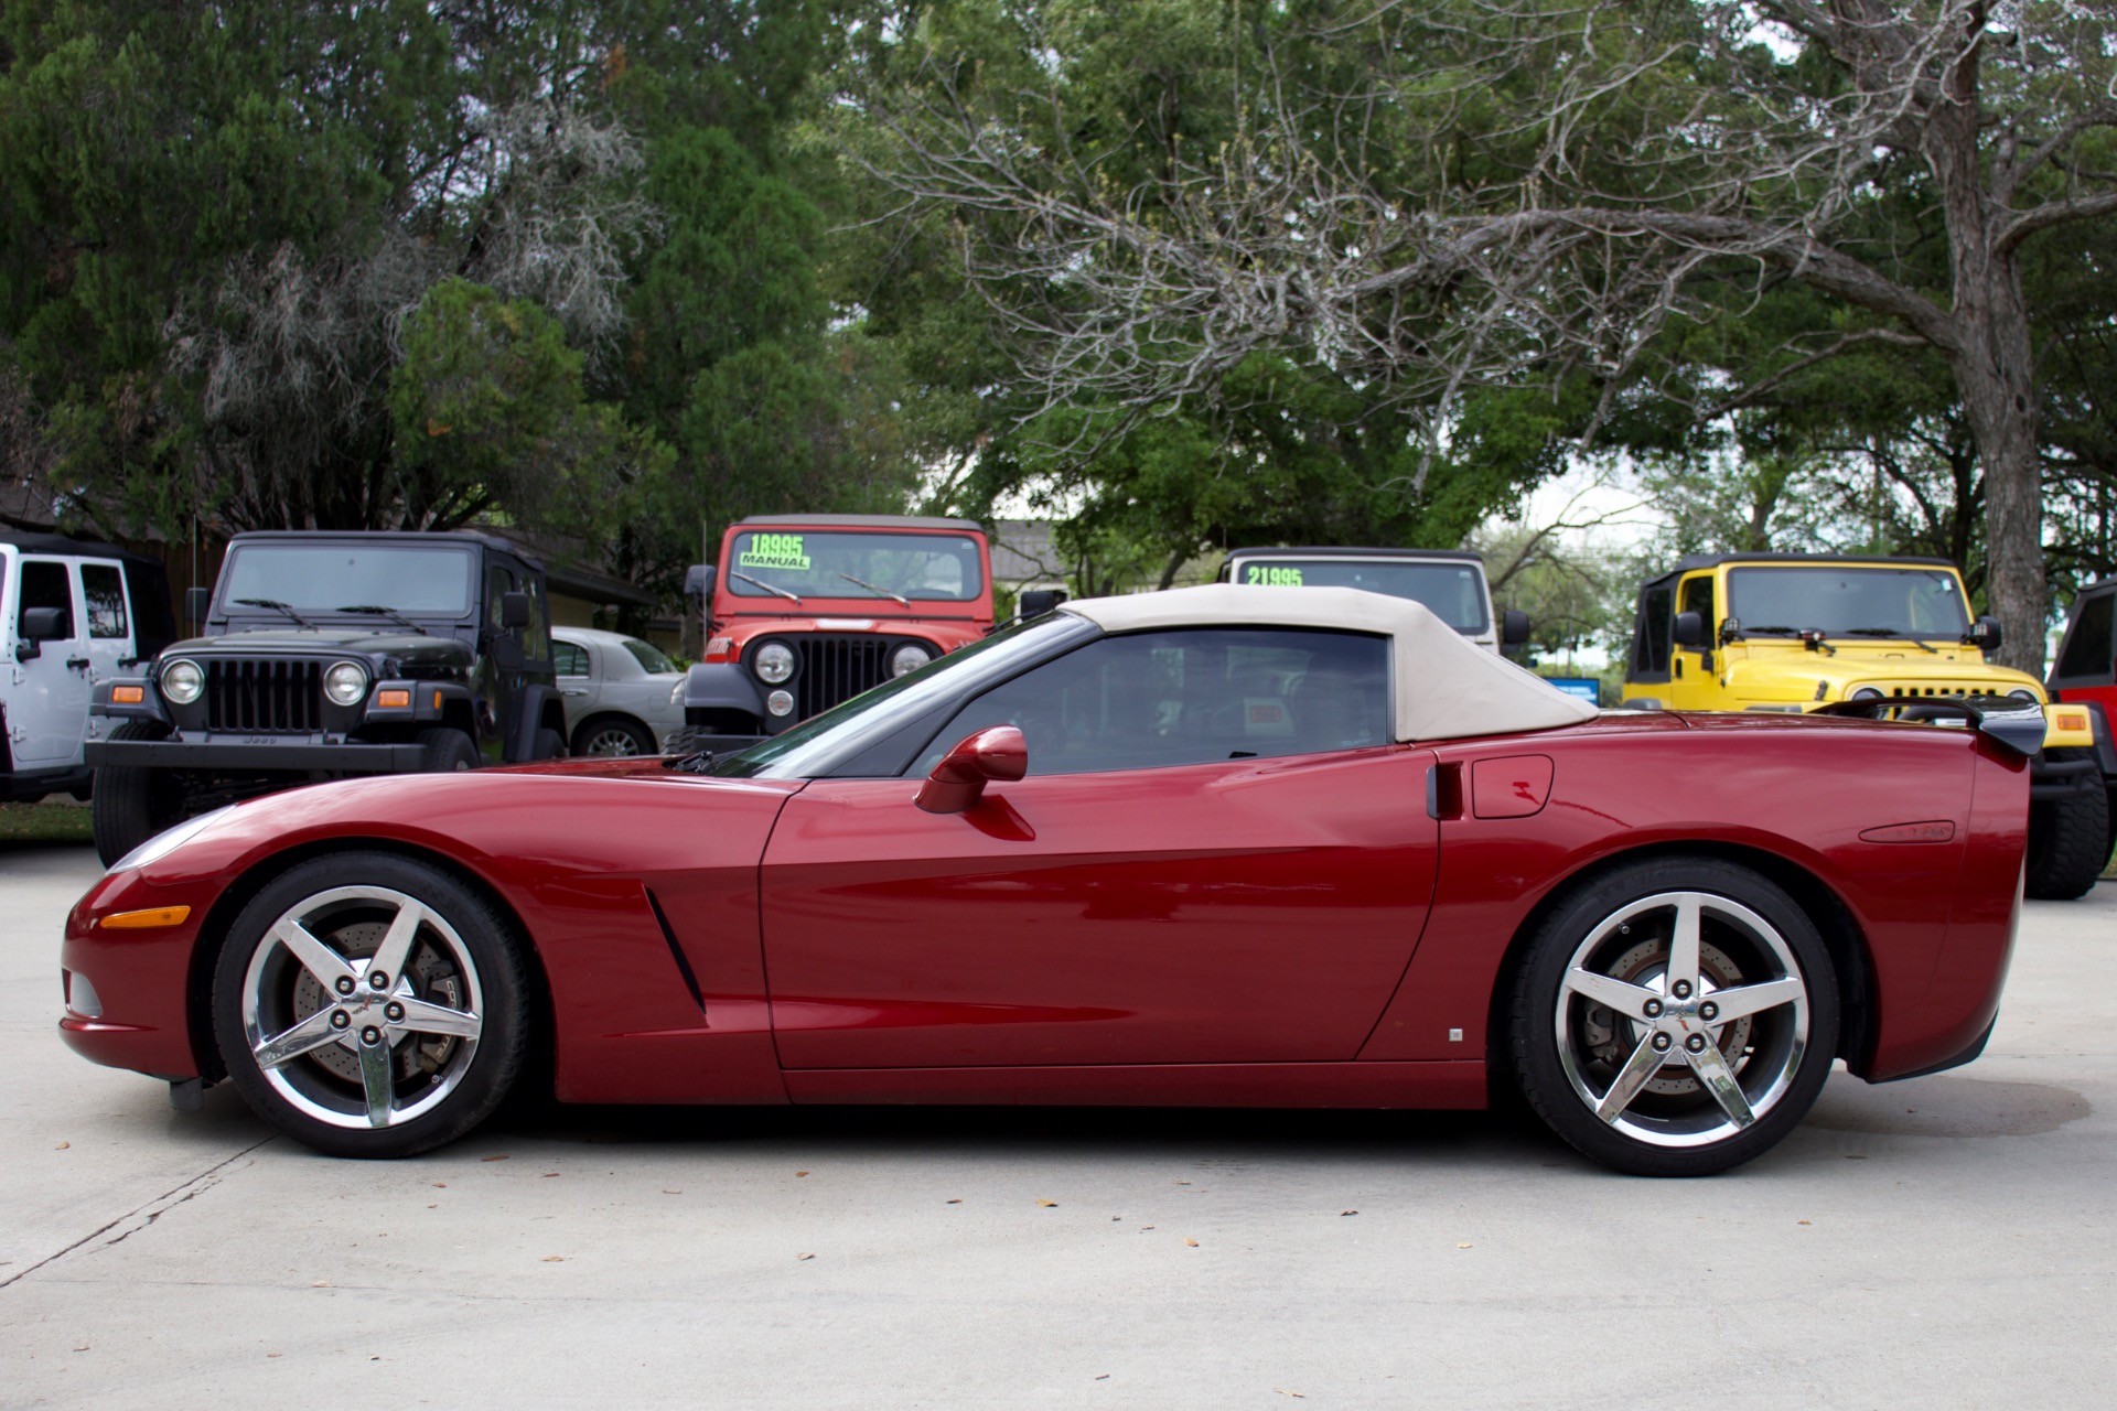
[[[1727,616],[1744,633],[1948,637],[1971,630],[1952,569],[1772,565],[1727,571]]]

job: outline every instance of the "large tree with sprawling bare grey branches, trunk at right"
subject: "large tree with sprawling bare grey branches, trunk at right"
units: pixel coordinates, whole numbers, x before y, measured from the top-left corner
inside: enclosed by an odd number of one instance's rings
[[[1387,387],[1429,455],[1480,385],[1592,379],[1596,432],[1655,396],[1641,372],[1664,332],[1795,281],[1835,328],[1747,372],[1876,343],[1933,351],[1984,468],[2007,658],[2034,664],[2022,258],[2047,231],[2117,212],[2106,11],[1164,4],[1194,25],[1224,17],[1228,83],[1205,104],[1228,135],[1188,142],[1192,114],[1164,112],[1156,169],[1107,161],[1128,133],[1075,85],[1082,30],[1105,15],[1092,4],[991,17],[1031,55],[1003,68],[940,23],[915,30],[919,83],[868,97],[893,138],[872,173],[959,224],[965,271],[1044,402],[1145,415],[1277,351]],[[1863,222],[1886,193],[1914,195],[1920,220]],[[1939,283],[1920,281],[1918,241],[1946,252]]]

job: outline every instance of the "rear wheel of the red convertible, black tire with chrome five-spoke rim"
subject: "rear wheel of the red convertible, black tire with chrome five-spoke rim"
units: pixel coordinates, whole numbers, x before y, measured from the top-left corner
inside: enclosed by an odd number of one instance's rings
[[[1672,956],[1681,931],[1696,960]],[[1708,1176],[1808,1115],[1838,1049],[1838,975],[1799,903],[1749,867],[1630,863],[1537,929],[1507,1039],[1522,1096],[1586,1157]]]

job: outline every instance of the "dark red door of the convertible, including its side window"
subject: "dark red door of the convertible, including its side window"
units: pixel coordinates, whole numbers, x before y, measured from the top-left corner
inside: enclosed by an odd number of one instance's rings
[[[762,865],[788,1068],[1351,1060],[1433,895],[1389,645],[1105,637],[965,704],[898,778],[819,778]],[[1029,776],[912,804],[993,723]]]

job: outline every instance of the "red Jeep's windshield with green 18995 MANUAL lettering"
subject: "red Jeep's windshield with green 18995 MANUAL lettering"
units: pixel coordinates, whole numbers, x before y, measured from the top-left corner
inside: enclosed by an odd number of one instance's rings
[[[984,594],[978,542],[959,533],[745,529],[726,578],[743,599],[974,603]]]

